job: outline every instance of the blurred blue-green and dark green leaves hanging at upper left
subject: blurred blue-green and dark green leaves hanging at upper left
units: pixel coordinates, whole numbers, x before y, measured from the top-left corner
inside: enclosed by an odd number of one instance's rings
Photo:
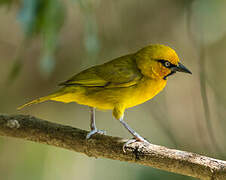
[[[40,68],[43,75],[49,76],[54,69],[54,53],[64,16],[64,4],[60,0],[23,0],[19,11],[18,19],[23,26],[25,38],[41,36],[43,45]]]

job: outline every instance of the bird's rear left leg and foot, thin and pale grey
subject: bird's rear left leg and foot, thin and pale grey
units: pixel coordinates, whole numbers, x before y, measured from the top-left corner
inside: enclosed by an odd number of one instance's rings
[[[92,135],[99,133],[99,134],[106,134],[105,131],[98,130],[96,127],[95,122],[95,108],[90,107],[90,129],[91,131],[86,135],[86,139],[89,139]]]

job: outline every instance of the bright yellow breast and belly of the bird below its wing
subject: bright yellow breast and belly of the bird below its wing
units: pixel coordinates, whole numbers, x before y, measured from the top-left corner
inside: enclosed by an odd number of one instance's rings
[[[66,103],[77,102],[98,109],[113,109],[117,104],[130,108],[150,100],[165,85],[166,80],[163,79],[143,79],[134,86],[123,88],[66,87],[68,93],[51,100]]]

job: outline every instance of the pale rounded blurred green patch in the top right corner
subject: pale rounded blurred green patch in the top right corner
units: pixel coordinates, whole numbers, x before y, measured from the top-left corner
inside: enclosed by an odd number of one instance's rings
[[[205,45],[219,41],[226,33],[226,1],[196,0],[192,3],[192,33]]]

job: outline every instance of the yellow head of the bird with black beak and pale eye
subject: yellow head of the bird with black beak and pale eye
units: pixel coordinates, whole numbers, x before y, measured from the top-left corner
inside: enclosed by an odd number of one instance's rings
[[[179,62],[176,52],[165,45],[149,45],[135,54],[136,63],[144,76],[153,79],[167,79],[177,71],[191,74]]]

